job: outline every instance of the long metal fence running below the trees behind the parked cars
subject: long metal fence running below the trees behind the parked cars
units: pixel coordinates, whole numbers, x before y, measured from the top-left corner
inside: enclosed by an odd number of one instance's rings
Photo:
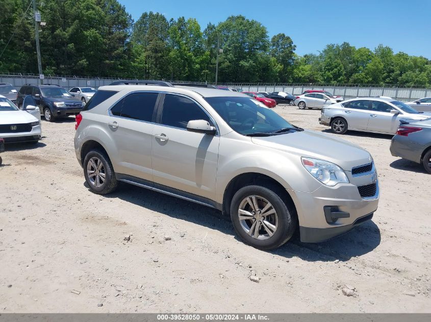
[[[58,84],[66,89],[72,87],[99,87],[109,85],[120,78],[85,78],[80,76],[46,76],[43,82]],[[36,84],[39,76],[33,74],[0,74],[0,82],[11,83],[17,90],[27,83]],[[190,81],[186,81],[190,83]],[[199,82],[195,82],[199,83]],[[278,83],[219,83],[232,89],[241,89],[249,92],[287,92],[293,95],[300,95],[306,90],[323,90],[340,95],[344,99],[363,96],[389,96],[400,101],[410,101],[422,97],[431,96],[431,87],[414,87],[402,85],[317,85],[317,84],[278,84]]]

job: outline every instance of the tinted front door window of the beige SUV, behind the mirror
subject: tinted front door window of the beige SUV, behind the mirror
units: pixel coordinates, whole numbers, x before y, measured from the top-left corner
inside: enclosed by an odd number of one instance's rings
[[[189,121],[193,120],[205,120],[212,124],[208,114],[192,100],[183,96],[166,94],[161,124],[186,129]]]

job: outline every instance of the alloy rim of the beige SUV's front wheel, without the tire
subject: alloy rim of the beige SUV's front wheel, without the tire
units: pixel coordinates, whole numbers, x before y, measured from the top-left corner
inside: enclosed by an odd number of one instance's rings
[[[277,212],[264,197],[245,197],[238,209],[238,219],[248,236],[257,240],[271,238],[278,226]]]

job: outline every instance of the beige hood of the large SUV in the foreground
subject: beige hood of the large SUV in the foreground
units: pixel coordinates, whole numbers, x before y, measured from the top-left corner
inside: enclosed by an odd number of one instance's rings
[[[358,145],[315,131],[300,131],[282,135],[252,137],[253,143],[264,147],[333,162],[345,171],[370,163],[371,155]]]

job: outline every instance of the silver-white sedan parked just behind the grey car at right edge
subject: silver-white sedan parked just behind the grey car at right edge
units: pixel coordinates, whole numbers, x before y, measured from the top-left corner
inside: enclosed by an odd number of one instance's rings
[[[323,107],[319,123],[337,134],[347,130],[395,134],[401,119],[430,117],[431,113],[419,112],[392,98],[363,97]]]

